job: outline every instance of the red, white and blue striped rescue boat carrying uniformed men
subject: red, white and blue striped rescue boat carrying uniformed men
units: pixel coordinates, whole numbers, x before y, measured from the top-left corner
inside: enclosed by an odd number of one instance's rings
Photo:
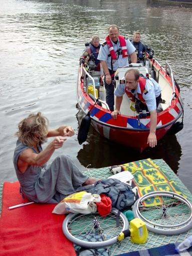
[[[161,87],[162,100],[157,109],[157,143],[165,134],[179,132],[183,127],[183,103],[179,95],[179,86],[173,77],[168,62],[165,62],[165,68],[155,59],[147,59],[145,66],[137,63],[129,65],[129,67],[119,68],[115,73],[116,85],[129,68],[138,68],[141,76],[152,77]],[[117,119],[113,119],[105,100],[105,88],[101,79],[101,72],[81,65],[76,95],[78,104],[85,113],[79,127],[79,144],[86,140],[91,123],[101,136],[110,141],[131,147],[139,152],[149,147],[147,144],[150,128],[149,113],[137,113],[125,93],[120,109],[121,114],[118,115]],[[181,115],[182,120],[177,121]]]

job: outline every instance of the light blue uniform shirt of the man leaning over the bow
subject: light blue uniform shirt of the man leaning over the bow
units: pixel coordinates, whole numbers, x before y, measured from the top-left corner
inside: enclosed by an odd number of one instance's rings
[[[125,93],[125,86],[125,84],[118,84],[114,92],[115,96],[123,96]],[[156,109],[156,97],[160,95],[161,88],[153,78],[150,78],[146,79],[145,89],[147,90],[147,93],[145,94],[143,92],[142,97],[146,102],[149,112],[151,112]],[[137,85],[134,93],[132,93],[137,99],[139,99],[137,93],[141,93],[139,84]]]

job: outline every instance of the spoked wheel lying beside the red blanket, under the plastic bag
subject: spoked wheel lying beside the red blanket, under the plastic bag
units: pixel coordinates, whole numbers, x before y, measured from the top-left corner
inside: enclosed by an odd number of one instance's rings
[[[86,248],[104,248],[117,242],[117,235],[128,229],[129,223],[117,210],[102,217],[98,212],[91,214],[70,213],[62,225],[65,236],[77,245]]]

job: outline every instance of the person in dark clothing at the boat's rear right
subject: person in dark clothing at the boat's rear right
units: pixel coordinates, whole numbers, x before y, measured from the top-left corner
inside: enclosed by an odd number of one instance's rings
[[[154,51],[141,42],[141,34],[139,31],[134,32],[133,40],[130,40],[130,42],[136,48],[138,63],[144,62],[146,58],[152,59]]]

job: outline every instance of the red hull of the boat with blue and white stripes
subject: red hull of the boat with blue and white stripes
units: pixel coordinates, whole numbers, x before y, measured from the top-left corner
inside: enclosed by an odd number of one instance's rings
[[[156,68],[159,66],[155,61],[153,61],[153,65],[156,65]],[[165,75],[165,71],[160,70],[159,72],[162,73],[170,86],[172,86],[171,79],[168,75]],[[177,97],[171,101],[171,105],[160,113],[157,113],[157,141],[169,131],[170,127],[182,114],[182,101],[176,87],[175,93]],[[117,119],[114,120],[111,117],[110,110],[107,110],[98,104],[94,105],[95,102],[83,91],[81,70],[79,71],[77,83],[77,100],[85,113],[90,111],[90,116],[92,118],[91,123],[101,136],[104,136],[110,141],[134,148],[139,152],[142,152],[149,147],[147,138],[150,129],[150,116],[138,119],[138,117],[135,116],[118,115]]]

